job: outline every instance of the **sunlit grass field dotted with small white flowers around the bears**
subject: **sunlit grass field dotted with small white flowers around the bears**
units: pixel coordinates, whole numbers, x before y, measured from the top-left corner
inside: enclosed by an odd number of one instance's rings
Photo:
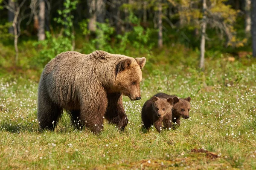
[[[37,87],[24,75],[0,78],[0,169],[256,169],[256,65],[221,59],[205,72],[144,72],[142,100],[124,97],[123,133],[107,121],[100,135],[75,130],[66,113],[54,132],[40,133]],[[141,107],[157,92],[191,96],[190,118],[142,133]]]

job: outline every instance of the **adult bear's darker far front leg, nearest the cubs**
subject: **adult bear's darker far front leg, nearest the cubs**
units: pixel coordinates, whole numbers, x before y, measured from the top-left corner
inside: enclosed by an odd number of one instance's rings
[[[110,123],[116,124],[123,131],[128,124],[128,118],[122,104],[122,94],[110,93],[107,96],[108,107],[105,117]]]

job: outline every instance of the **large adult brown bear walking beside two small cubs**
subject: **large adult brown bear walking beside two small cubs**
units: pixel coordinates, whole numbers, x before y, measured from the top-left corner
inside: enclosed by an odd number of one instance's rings
[[[40,127],[53,130],[65,109],[72,121],[80,120],[93,133],[103,129],[104,117],[124,130],[128,118],[122,94],[131,100],[141,98],[141,69],[145,60],[104,51],[57,55],[47,63],[39,82]]]

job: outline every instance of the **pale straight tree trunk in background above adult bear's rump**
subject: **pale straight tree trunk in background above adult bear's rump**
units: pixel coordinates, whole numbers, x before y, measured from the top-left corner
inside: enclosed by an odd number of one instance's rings
[[[45,40],[45,2],[44,0],[39,1],[39,29],[38,29],[38,40]]]

